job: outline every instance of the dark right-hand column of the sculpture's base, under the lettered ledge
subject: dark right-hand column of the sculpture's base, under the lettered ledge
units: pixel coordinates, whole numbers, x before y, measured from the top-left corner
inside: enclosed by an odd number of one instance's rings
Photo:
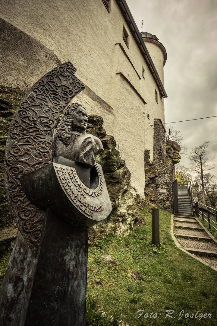
[[[84,326],[88,228],[76,229],[50,211],[26,326]]]

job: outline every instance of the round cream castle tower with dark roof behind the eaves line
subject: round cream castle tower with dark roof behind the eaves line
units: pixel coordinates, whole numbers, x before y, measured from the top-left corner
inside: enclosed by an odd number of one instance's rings
[[[152,61],[157,69],[162,84],[164,84],[164,65],[167,61],[167,52],[162,43],[158,41],[156,35],[141,32],[142,39],[150,53]]]

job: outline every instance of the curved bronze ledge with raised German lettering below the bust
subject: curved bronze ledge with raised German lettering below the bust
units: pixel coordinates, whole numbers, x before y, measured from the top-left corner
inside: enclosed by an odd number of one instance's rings
[[[78,178],[74,167],[50,163],[20,178],[27,198],[41,209],[50,208],[64,222],[77,227],[91,227],[104,220],[112,210],[101,165],[95,163],[94,177],[88,188]],[[85,181],[84,181],[85,182]],[[49,191],[47,191],[49,185]]]

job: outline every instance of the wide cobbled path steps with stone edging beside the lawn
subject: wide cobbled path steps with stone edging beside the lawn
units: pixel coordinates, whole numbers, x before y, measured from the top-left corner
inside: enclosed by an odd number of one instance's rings
[[[217,271],[217,240],[197,218],[174,215],[173,233],[183,249]]]

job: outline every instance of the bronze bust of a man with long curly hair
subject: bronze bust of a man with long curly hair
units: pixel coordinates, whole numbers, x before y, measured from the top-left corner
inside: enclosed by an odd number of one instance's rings
[[[102,152],[99,138],[86,134],[88,114],[81,104],[73,103],[63,112],[54,133],[53,162],[58,157],[68,158],[76,163],[94,166],[95,156]]]

